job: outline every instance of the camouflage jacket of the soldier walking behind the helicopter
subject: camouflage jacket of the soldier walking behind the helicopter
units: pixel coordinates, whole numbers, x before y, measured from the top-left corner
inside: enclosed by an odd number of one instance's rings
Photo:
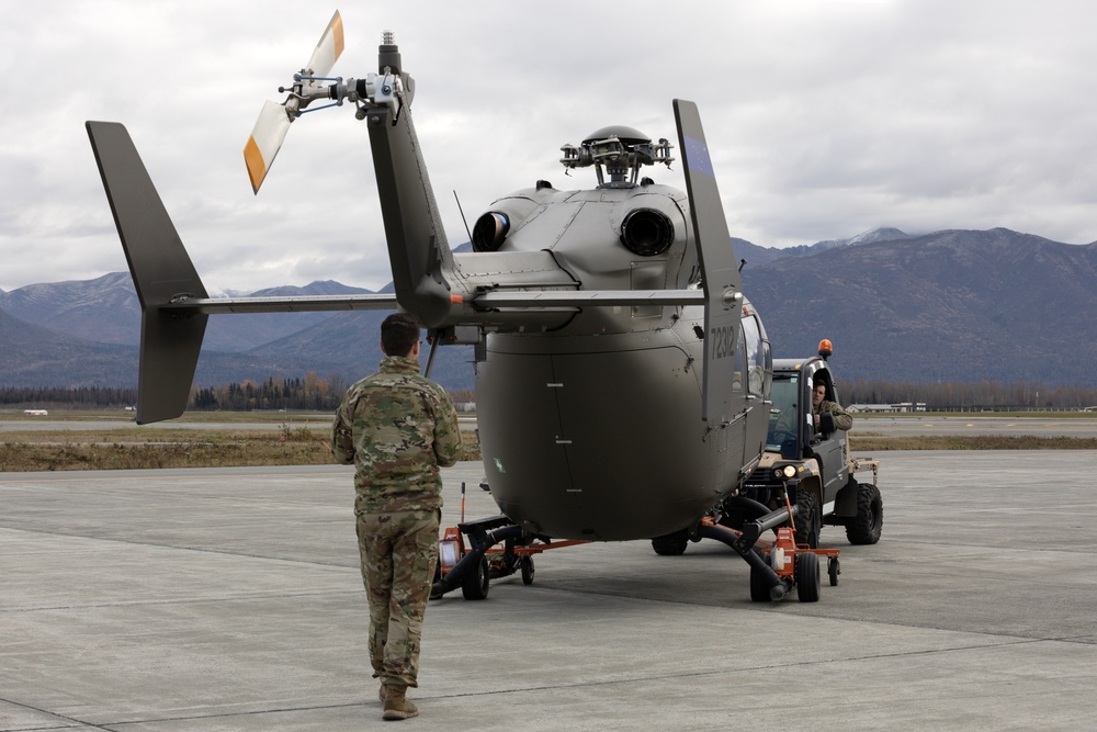
[[[386,356],[351,386],[331,427],[336,462],[355,468],[358,514],[441,508],[439,466],[455,463],[460,448],[450,396],[404,357]]]

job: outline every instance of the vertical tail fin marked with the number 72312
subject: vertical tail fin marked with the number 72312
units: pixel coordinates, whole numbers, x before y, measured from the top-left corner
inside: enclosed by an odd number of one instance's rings
[[[701,418],[716,428],[733,416],[732,371],[739,347],[736,341],[743,309],[742,283],[701,115],[693,102],[676,99],[674,105],[705,295]]]

